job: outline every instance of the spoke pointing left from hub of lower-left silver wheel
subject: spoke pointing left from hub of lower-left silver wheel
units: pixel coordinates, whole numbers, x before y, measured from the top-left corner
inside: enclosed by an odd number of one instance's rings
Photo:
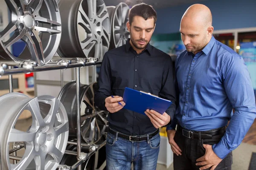
[[[36,132],[26,133],[12,128],[8,142],[32,142],[35,140]]]

